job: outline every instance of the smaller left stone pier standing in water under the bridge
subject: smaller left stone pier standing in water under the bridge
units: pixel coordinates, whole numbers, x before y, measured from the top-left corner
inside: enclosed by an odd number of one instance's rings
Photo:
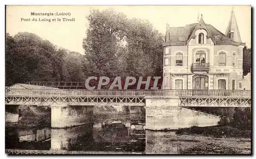
[[[51,105],[51,127],[65,128],[93,122],[92,105]]]

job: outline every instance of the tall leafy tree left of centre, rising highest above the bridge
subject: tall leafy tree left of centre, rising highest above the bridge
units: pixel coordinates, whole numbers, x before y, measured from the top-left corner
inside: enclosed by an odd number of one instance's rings
[[[119,41],[123,38],[125,16],[113,10],[93,10],[87,17],[89,29],[83,40],[88,75],[114,77],[120,75]]]

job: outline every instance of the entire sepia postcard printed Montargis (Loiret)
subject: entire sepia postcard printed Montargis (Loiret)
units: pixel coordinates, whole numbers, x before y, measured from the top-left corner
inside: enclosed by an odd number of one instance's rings
[[[6,6],[6,154],[251,154],[251,6]]]

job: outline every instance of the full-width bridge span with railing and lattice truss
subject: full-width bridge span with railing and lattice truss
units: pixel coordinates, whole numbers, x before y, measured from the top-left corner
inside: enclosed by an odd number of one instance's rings
[[[146,96],[178,97],[183,107],[250,107],[250,90],[51,90],[6,89],[6,104],[123,104],[144,106]],[[200,106],[199,106],[200,105]]]

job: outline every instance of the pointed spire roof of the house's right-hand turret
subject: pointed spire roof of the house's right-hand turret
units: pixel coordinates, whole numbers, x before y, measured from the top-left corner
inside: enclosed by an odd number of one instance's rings
[[[227,25],[225,35],[229,36],[230,32],[233,32],[233,41],[242,42],[241,37],[240,37],[240,33],[239,33],[239,29],[238,29],[237,19],[236,19],[236,16],[234,16],[233,9],[231,11],[231,15],[230,15],[230,18],[229,18],[229,22],[228,22],[228,25]]]

